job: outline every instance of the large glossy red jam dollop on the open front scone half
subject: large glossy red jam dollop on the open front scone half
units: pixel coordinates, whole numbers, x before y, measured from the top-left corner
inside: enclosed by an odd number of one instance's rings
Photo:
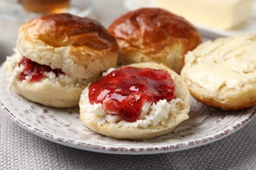
[[[135,122],[145,102],[175,99],[175,84],[167,71],[122,67],[89,86],[89,101],[101,103],[107,114]]]

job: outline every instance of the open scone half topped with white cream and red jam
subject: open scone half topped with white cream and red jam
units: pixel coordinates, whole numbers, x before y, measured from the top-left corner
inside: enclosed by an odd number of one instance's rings
[[[190,93],[175,71],[158,63],[109,69],[81,94],[80,118],[96,133],[148,139],[188,118]]]

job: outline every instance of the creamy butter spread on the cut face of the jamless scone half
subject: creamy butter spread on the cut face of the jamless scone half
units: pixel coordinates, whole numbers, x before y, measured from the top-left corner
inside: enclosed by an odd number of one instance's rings
[[[256,80],[255,47],[256,33],[205,42],[186,54],[182,74],[211,93],[240,90]]]

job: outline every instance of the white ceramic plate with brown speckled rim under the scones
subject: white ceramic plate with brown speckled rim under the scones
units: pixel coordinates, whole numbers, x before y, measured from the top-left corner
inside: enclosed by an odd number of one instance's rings
[[[20,127],[54,143],[110,154],[158,154],[209,144],[234,133],[254,116],[256,107],[224,112],[191,100],[190,118],[173,132],[146,141],[117,140],[94,133],[79,120],[79,108],[56,109],[32,103],[9,89],[0,69],[0,106]]]

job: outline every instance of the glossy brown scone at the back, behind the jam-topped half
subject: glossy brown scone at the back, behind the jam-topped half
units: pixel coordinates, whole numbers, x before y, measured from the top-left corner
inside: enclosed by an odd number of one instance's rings
[[[108,32],[117,39],[119,64],[163,63],[177,73],[184,65],[184,54],[201,42],[196,28],[184,18],[153,8],[120,16]]]

